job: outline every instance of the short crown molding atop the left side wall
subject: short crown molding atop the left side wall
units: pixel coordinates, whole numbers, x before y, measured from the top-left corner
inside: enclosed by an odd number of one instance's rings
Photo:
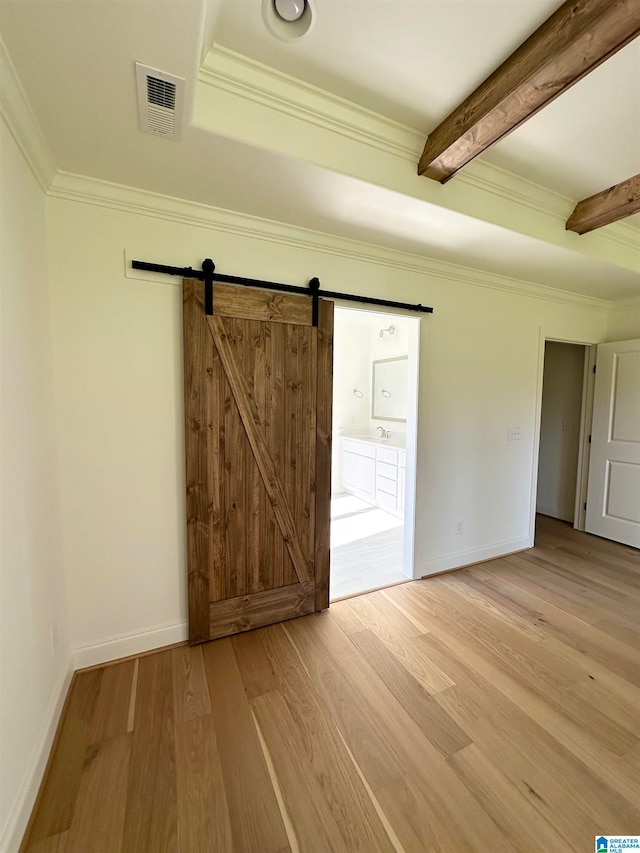
[[[0,38],[0,115],[44,192],[56,173],[53,155]]]

